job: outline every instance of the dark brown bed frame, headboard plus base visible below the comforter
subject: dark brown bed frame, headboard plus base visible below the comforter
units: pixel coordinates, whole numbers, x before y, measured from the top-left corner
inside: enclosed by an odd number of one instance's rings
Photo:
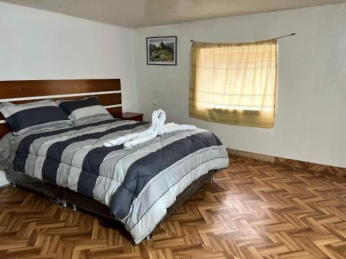
[[[70,80],[25,80],[25,81],[0,81],[0,103],[12,102],[24,104],[35,102],[39,99],[80,99],[91,95],[98,96],[101,103],[113,117],[122,115],[120,79],[70,79]],[[10,132],[8,124],[0,114],[0,138]],[[116,220],[109,211],[109,207],[85,197],[70,189],[51,184],[43,180],[31,178],[24,173],[6,170],[6,178],[12,187],[22,186],[31,191],[42,193],[61,202],[62,207],[71,204],[73,210],[76,207],[102,215],[109,220]],[[216,171],[209,171],[206,175],[192,182],[180,195],[170,208],[170,215],[176,207],[185,202],[195,191],[209,180],[213,181]],[[164,220],[164,218],[163,218]],[[117,220],[116,220],[117,221]],[[151,234],[146,239],[151,238]]]

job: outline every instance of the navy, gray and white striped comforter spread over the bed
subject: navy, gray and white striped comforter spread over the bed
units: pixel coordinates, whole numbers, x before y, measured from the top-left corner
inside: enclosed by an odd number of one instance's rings
[[[11,143],[13,170],[107,204],[138,243],[188,185],[212,169],[228,166],[224,145],[203,129],[168,133],[131,149],[103,146],[149,125],[109,119],[44,133],[9,134],[0,142],[0,153]],[[0,162],[6,159],[0,157]]]

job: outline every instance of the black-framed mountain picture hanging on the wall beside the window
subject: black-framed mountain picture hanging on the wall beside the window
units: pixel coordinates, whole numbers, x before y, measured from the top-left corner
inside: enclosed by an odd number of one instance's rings
[[[147,64],[176,66],[176,36],[147,37]]]

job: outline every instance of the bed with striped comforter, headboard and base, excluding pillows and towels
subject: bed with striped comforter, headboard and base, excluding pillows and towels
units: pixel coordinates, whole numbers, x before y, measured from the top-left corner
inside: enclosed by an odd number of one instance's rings
[[[0,81],[0,93],[2,100],[17,104],[95,95],[113,117],[122,113],[120,79]],[[215,171],[228,166],[221,141],[199,128],[130,149],[103,146],[149,125],[108,118],[14,135],[2,123],[0,166],[12,186],[118,220],[138,244]]]

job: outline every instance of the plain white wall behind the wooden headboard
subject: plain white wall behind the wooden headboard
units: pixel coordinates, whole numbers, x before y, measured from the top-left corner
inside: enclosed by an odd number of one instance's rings
[[[0,80],[89,78],[120,78],[137,111],[133,29],[0,3]]]

